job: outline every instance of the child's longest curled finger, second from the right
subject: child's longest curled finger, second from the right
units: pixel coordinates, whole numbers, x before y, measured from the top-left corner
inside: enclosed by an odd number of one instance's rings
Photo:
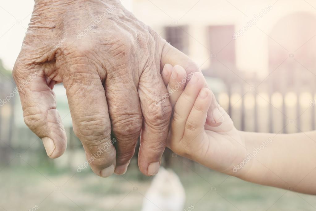
[[[205,80],[202,73],[194,73],[190,82],[186,85],[185,90],[176,102],[171,121],[172,140],[182,139],[186,120],[200,90],[204,86],[204,82]]]

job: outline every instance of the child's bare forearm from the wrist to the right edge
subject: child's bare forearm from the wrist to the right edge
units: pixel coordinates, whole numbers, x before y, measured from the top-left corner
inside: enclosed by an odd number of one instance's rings
[[[316,194],[316,131],[294,134],[240,132],[248,155],[241,179]],[[235,170],[236,171],[236,170]]]

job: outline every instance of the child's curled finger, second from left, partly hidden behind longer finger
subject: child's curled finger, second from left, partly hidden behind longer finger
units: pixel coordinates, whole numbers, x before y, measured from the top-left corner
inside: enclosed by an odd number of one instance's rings
[[[186,72],[183,67],[175,65],[172,70],[172,74],[167,86],[167,90],[170,94],[169,100],[172,107],[176,104],[179,96],[184,90],[186,83]]]

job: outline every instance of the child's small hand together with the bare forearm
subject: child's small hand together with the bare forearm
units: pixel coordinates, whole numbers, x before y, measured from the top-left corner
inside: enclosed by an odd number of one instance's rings
[[[222,124],[217,127],[204,125],[215,98],[208,88],[203,87],[202,73],[194,73],[186,83],[189,77],[182,67],[167,65],[167,68],[169,71],[165,66],[162,78],[173,107],[167,140],[171,150],[246,181],[316,194],[316,145],[313,141],[316,131],[293,134],[241,132],[221,107]]]

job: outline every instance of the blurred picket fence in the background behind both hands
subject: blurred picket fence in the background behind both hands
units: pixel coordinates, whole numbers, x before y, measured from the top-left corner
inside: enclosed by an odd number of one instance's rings
[[[312,88],[307,89],[308,84],[297,89],[299,91],[274,91],[271,83],[262,83],[260,86],[251,86],[252,82],[224,84],[225,88],[215,93],[216,98],[239,130],[295,133],[315,129],[316,97]],[[5,99],[14,88],[15,84],[1,80],[0,99]],[[28,154],[31,159],[31,155],[37,153],[37,156],[40,154],[43,159],[47,159],[40,139],[26,126],[15,124],[14,116],[17,109],[20,109],[18,97],[12,97],[10,102],[0,106],[0,163],[8,163],[12,156],[19,154]],[[70,166],[71,159],[76,157],[77,151],[83,151],[72,127],[65,129],[68,143],[64,165]],[[168,165],[171,163],[167,158],[172,156],[171,151],[166,152],[165,160]]]

